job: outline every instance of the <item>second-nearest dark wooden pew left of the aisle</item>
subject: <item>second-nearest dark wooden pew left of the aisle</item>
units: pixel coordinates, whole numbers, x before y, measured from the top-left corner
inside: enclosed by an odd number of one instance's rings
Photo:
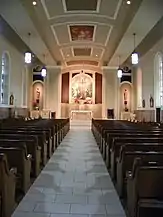
[[[10,167],[17,169],[16,188],[26,193],[30,186],[31,155],[27,154],[26,146],[0,147],[0,153],[5,153]]]

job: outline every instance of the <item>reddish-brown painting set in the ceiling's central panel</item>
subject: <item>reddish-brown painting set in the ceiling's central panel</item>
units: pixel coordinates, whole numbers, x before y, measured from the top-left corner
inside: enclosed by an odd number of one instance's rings
[[[69,28],[72,41],[93,41],[94,26],[74,25]]]

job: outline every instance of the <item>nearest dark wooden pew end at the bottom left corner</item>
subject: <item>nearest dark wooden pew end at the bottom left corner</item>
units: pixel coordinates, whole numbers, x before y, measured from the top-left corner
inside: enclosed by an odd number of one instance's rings
[[[11,217],[15,208],[16,170],[9,168],[6,155],[0,153],[1,217]]]

